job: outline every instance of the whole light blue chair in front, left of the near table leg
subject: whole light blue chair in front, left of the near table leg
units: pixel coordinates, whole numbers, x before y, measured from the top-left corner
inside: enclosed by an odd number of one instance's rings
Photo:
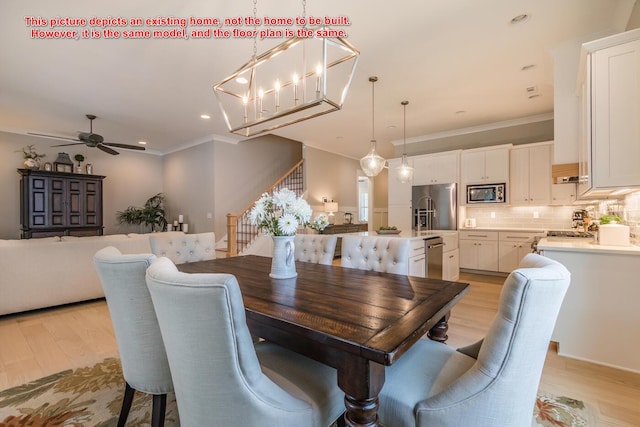
[[[269,342],[254,346],[235,276],[181,273],[161,257],[147,285],[182,427],[325,427],[344,412],[333,368]]]

